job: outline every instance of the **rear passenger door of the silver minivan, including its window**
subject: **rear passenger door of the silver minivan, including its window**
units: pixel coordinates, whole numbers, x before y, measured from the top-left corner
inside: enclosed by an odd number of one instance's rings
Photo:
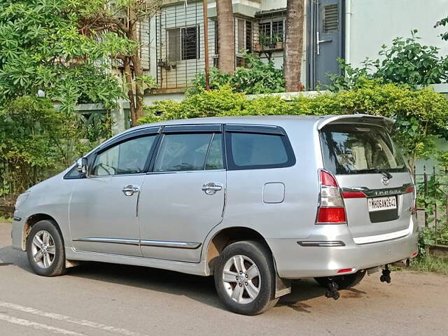
[[[199,262],[205,237],[222,221],[225,184],[221,125],[165,127],[139,200],[143,255]]]

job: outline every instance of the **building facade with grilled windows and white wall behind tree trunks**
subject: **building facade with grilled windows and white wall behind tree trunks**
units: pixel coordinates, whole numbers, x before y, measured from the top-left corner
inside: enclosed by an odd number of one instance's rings
[[[328,74],[340,73],[337,58],[361,66],[376,59],[381,45],[419,30],[421,43],[436,45],[448,54],[439,37],[444,27],[435,22],[446,15],[447,0],[304,0],[302,83],[315,90],[328,83]],[[233,0],[235,59],[244,66],[244,52],[255,52],[277,67],[283,64],[286,0]],[[148,74],[158,89],[146,97],[183,99],[197,73],[204,72],[204,43],[209,45],[209,66],[218,64],[216,3],[208,1],[208,41],[204,41],[203,2],[165,0],[162,10],[142,26],[147,38]]]

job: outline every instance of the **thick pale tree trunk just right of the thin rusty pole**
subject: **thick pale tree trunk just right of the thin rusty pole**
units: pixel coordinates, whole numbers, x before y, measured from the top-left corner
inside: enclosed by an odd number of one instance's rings
[[[218,18],[218,68],[225,73],[235,71],[235,17],[232,0],[216,0]]]

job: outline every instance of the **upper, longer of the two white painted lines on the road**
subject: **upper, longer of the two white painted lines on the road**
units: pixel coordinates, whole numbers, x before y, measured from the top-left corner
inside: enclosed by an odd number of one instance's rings
[[[116,327],[113,327],[112,325],[104,325],[102,323],[96,323],[96,322],[87,321],[87,320],[78,320],[77,318],[73,318],[71,316],[65,316],[65,315],[61,315],[61,314],[47,313],[45,311],[41,311],[41,310],[34,309],[31,307],[21,306],[20,304],[0,301],[0,307],[14,309],[17,311],[22,311],[24,313],[34,314],[34,315],[38,315],[38,316],[42,316],[42,317],[46,317],[46,318],[52,318],[53,320],[59,320],[59,321],[65,321],[65,322],[69,322],[69,323],[73,323],[73,324],[77,324],[77,325],[83,325],[83,326],[89,327],[89,328],[114,332],[119,335],[144,336],[144,335],[141,335],[139,332],[134,332],[134,331],[123,329],[123,328],[116,328]]]

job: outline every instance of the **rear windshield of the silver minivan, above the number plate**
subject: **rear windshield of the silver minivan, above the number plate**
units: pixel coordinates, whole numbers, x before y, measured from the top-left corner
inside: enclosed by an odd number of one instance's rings
[[[328,125],[321,130],[323,164],[333,174],[406,172],[386,130],[370,125]]]

